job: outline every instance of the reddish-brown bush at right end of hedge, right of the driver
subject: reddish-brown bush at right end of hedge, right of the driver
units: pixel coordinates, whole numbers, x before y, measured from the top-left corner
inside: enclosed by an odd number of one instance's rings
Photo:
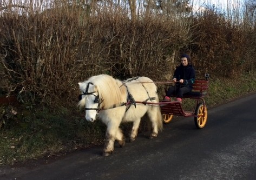
[[[205,11],[193,19],[191,44],[194,64],[198,70],[210,74],[233,77],[250,70],[252,58],[246,56],[253,46],[247,46],[248,38],[242,25],[234,25],[215,11]]]

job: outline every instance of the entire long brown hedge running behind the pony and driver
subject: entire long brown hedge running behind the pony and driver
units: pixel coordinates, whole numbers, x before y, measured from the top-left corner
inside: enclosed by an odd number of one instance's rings
[[[0,18],[1,91],[24,103],[75,107],[77,82],[97,74],[166,81],[183,52],[191,54],[198,77],[239,76],[255,67],[255,30],[215,11],[161,17],[131,21],[122,8],[88,13],[70,5],[6,14]]]

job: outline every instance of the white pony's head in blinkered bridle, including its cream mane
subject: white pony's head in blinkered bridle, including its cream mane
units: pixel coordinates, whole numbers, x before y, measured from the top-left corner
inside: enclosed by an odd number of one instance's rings
[[[126,89],[121,86],[122,82],[111,76],[93,76],[78,85],[82,92],[78,106],[85,106],[87,121],[94,122],[100,110],[126,101]]]

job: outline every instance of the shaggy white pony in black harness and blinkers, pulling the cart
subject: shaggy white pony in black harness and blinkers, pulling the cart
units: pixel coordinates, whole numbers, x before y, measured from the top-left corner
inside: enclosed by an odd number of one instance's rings
[[[115,140],[124,146],[125,140],[119,128],[121,122],[133,122],[130,141],[135,140],[141,117],[146,113],[152,122],[150,138],[162,130],[160,106],[155,104],[159,103],[157,88],[148,77],[122,82],[109,75],[98,75],[78,84],[82,92],[78,106],[85,106],[87,121],[94,122],[99,117],[107,125],[103,156],[114,151]]]

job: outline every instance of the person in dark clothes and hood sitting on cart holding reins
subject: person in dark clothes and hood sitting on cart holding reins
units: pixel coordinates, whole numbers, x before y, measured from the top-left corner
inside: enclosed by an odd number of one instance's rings
[[[189,55],[181,55],[181,64],[174,71],[173,81],[175,85],[169,86],[163,99],[170,101],[170,96],[176,96],[176,101],[181,103],[183,94],[191,92],[195,82],[195,69]]]

